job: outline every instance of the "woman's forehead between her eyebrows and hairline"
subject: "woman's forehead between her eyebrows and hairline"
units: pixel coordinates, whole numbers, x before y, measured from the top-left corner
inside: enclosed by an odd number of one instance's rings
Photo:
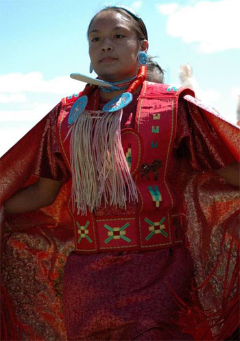
[[[125,27],[132,29],[132,23],[130,19],[126,18],[119,12],[104,11],[97,14],[93,23],[89,27],[89,33],[93,30],[104,30],[108,28],[115,29],[115,27]]]

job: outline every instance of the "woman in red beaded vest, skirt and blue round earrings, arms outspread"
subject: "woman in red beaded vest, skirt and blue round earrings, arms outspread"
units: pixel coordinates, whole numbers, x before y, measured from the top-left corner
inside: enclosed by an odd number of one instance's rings
[[[202,216],[198,220],[195,213],[201,215],[204,210],[198,199],[194,201],[189,195],[194,193],[195,196],[197,191],[201,195],[203,188],[208,187],[208,194],[215,196],[215,186],[224,187],[217,175],[213,175],[213,170],[230,185],[237,185],[235,148],[219,141],[221,132],[211,128],[213,119],[207,115],[204,117],[206,108],[197,108],[197,102],[191,96],[183,98],[190,94],[189,91],[143,82],[148,41],[145,25],[137,14],[118,6],[104,8],[91,20],[88,41],[91,66],[99,80],[110,82],[114,87],[106,83],[95,86],[93,82],[82,94],[63,99],[53,109],[43,121],[42,128],[35,130],[38,136],[42,133],[44,136],[40,143],[34,145],[38,156],[31,167],[33,170],[27,168],[26,172],[27,176],[34,174],[40,179],[33,185],[27,183],[29,186],[5,201],[9,226],[11,219],[17,220],[14,217],[18,217],[19,213],[47,207],[53,202],[53,207],[58,205],[55,209],[60,217],[53,221],[51,209],[43,210],[45,216],[38,215],[38,224],[41,222],[43,226],[42,234],[29,224],[32,244],[21,239],[21,250],[24,248],[25,252],[34,248],[32,235],[39,241],[44,235],[49,241],[46,248],[50,245],[51,252],[49,248],[48,252],[44,252],[44,247],[42,252],[35,251],[38,255],[36,263],[38,266],[40,263],[40,274],[36,272],[34,275],[39,290],[32,292],[36,296],[30,301],[34,301],[37,312],[33,311],[29,301],[26,301],[23,311],[17,303],[18,307],[14,308],[18,316],[16,333],[22,331],[27,340],[31,337],[34,340],[64,339],[59,302],[54,305],[58,318],[54,316],[50,302],[56,299],[54,293],[61,292],[58,290],[60,261],[56,250],[59,248],[62,254],[67,255],[69,247],[62,245],[70,243],[74,229],[75,251],[67,259],[63,279],[62,303],[67,340],[210,340],[219,335],[223,338],[229,336],[235,330],[235,324],[230,325],[224,334],[222,322],[213,326],[210,316],[202,316],[195,325],[191,325],[193,318],[189,328],[186,327],[189,316],[186,314],[184,318],[184,314],[179,315],[178,311],[181,300],[185,304],[190,301],[193,281],[191,256],[195,257],[195,263],[198,261],[198,266],[202,261],[200,255],[195,255],[197,247],[200,247],[199,240],[198,246],[189,246],[189,255],[183,242],[184,229],[188,233],[187,241],[194,243],[194,237],[191,239],[192,234],[189,233],[192,227],[198,236],[204,221],[204,228],[211,235],[211,228],[219,224],[213,224],[205,215],[203,220]],[[234,127],[226,126],[235,134]],[[62,183],[66,185],[62,187]],[[234,191],[228,187],[228,191],[230,189]],[[63,209],[69,191],[71,228],[66,227],[70,218]],[[235,195],[232,198],[234,201]],[[231,220],[220,222],[224,224],[221,235],[228,233],[228,237],[231,233],[234,235],[232,227],[229,228],[235,219],[231,210]],[[187,213],[191,222],[186,217]],[[67,224],[64,225],[62,220]],[[53,237],[51,225],[57,225],[56,221],[64,233],[58,230],[57,237]],[[50,228],[47,229],[46,225]],[[221,235],[215,239],[219,244]],[[19,239],[18,243],[12,242],[18,250],[19,243]],[[204,245],[211,246],[205,239]],[[235,254],[235,248],[236,245],[231,246],[231,255]],[[204,257],[205,261],[211,262],[211,256]],[[235,258],[231,257],[228,259],[234,268]],[[14,290],[11,291],[14,285],[8,282],[8,266],[10,268],[12,263],[8,263],[10,257],[6,258],[4,270],[7,275],[3,283],[8,292],[4,297],[10,302],[10,294],[21,302]],[[215,318],[220,318],[223,306],[213,302],[215,297],[211,295],[211,279],[219,266],[216,264],[211,276],[208,268],[201,273],[204,278],[196,275],[195,279],[200,284],[209,275],[208,283],[205,283],[209,305],[208,302],[202,302],[202,305],[208,311],[211,309]],[[236,296],[236,274],[235,270],[231,271],[228,276],[232,280],[225,285],[224,293],[228,292],[228,295],[224,307],[230,303],[235,307],[235,301],[231,300],[232,296]],[[53,289],[49,291],[48,311],[43,294],[47,280]],[[221,285],[218,274],[213,280]],[[24,301],[25,298],[21,296],[21,299]],[[195,304],[191,315],[194,316],[194,309],[199,308],[196,302],[191,304]],[[216,307],[220,312],[216,311]],[[51,320],[48,327],[43,327],[43,320]]]

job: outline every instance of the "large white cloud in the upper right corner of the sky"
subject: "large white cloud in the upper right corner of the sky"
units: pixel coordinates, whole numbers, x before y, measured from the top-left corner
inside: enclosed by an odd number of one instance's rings
[[[239,0],[200,1],[184,7],[169,3],[158,5],[158,11],[168,16],[169,36],[198,43],[206,54],[240,48]]]

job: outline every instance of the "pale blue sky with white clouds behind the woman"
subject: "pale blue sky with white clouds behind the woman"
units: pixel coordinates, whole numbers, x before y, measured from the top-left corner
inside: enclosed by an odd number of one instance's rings
[[[0,156],[84,88],[69,75],[89,75],[86,30],[104,5],[139,13],[165,82],[180,86],[180,66],[191,64],[197,97],[236,123],[240,0],[0,0]]]

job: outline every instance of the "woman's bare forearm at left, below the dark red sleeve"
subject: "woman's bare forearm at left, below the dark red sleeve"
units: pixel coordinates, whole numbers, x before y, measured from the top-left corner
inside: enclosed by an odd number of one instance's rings
[[[15,214],[34,211],[53,204],[62,182],[49,178],[40,178],[37,183],[19,189],[5,201],[5,213]]]

